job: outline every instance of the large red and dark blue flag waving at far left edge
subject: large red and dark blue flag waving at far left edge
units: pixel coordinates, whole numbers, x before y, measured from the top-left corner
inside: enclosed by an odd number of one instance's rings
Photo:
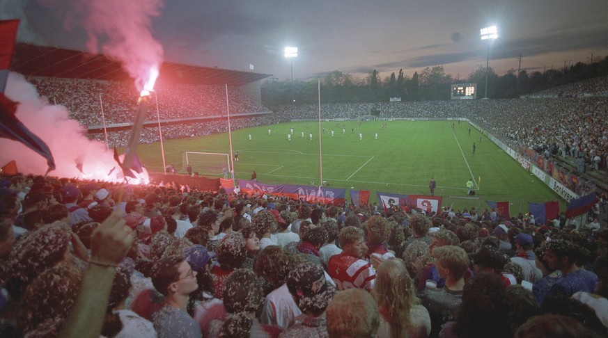
[[[47,144],[33,134],[17,119],[17,102],[11,101],[4,95],[10,61],[15,51],[15,36],[17,36],[19,20],[0,21],[0,137],[16,140],[34,152],[47,159],[49,170],[55,169],[55,160]]]

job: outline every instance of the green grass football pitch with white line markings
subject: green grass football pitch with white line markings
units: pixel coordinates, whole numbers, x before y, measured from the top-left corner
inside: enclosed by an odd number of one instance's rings
[[[428,195],[428,182],[434,177],[435,195],[443,196],[444,205],[485,208],[485,200],[508,200],[511,214],[527,212],[527,202],[559,199],[488,138],[483,137],[480,142],[479,131],[471,127],[469,136],[470,126],[466,122],[455,122],[455,129],[451,128],[452,121],[392,121],[387,122],[386,129],[382,129],[382,123],[362,122],[359,127],[359,122],[346,121],[336,127],[336,122],[322,122],[321,126],[325,127],[325,134],[321,131],[322,177],[329,187],[370,190],[371,201],[377,202],[376,191]],[[294,128],[294,134],[288,141],[290,127]],[[330,129],[335,129],[333,137]],[[363,140],[359,140],[359,132]],[[377,140],[374,139],[376,132]],[[309,133],[313,133],[312,141]],[[240,161],[235,162],[235,177],[249,179],[255,170],[258,181],[266,184],[319,184],[318,135],[317,122],[233,131],[233,151],[240,154]],[[475,154],[472,154],[473,143],[476,143]],[[182,152],[228,153],[228,134],[168,140],[164,149],[166,163],[174,163],[179,170]],[[138,152],[148,170],[162,172],[159,143],[140,145]],[[193,169],[197,170],[194,166]],[[220,175],[221,172],[217,172],[214,176]],[[465,183],[471,177],[479,200],[462,199],[467,197]],[[565,210],[565,202],[560,203],[561,210]]]

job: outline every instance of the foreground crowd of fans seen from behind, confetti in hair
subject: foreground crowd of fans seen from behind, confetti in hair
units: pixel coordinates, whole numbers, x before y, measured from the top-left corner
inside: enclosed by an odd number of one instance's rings
[[[0,336],[605,337],[607,250],[494,209],[3,175]]]

